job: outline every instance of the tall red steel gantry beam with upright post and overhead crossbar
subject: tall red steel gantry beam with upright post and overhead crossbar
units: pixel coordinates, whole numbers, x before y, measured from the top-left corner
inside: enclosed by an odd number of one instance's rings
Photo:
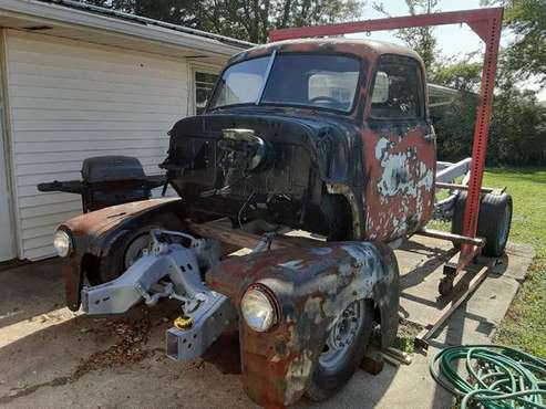
[[[364,20],[338,24],[290,28],[272,30],[270,41],[300,39],[309,36],[340,35],[370,31],[396,30],[412,27],[443,25],[466,23],[484,42],[485,56],[480,86],[480,102],[474,128],[472,146],[472,167],[468,181],[468,196],[463,219],[463,235],[475,238],[480,213],[480,192],[482,189],[485,154],[490,132],[491,113],[493,107],[493,91],[497,65],[498,43],[503,21],[503,8],[452,11],[419,15],[395,17],[379,20]],[[478,254],[480,248],[463,244],[457,265],[457,272]]]

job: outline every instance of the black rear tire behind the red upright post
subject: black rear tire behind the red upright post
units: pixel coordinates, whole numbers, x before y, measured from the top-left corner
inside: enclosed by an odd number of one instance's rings
[[[465,191],[461,192],[455,202],[451,224],[451,231],[455,234],[462,234],[463,232],[466,196]],[[482,196],[477,220],[477,237],[485,238],[485,245],[482,250],[483,255],[492,258],[503,255],[508,241],[512,211],[512,197],[508,193],[487,193]]]

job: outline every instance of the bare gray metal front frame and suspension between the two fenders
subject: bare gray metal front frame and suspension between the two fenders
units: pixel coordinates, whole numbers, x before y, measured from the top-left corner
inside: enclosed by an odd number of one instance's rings
[[[90,315],[119,314],[143,300],[150,306],[164,297],[179,300],[193,324],[187,329],[167,331],[167,356],[175,360],[195,359],[237,319],[230,301],[207,289],[200,276],[200,266],[210,268],[218,262],[219,248],[214,241],[176,231],[154,230],[151,235],[150,251],[120,277],[83,289],[83,310]],[[182,237],[190,244],[165,243],[161,241],[164,235]]]

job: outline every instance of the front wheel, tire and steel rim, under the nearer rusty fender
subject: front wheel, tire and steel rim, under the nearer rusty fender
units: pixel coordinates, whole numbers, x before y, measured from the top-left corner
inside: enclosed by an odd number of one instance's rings
[[[364,357],[373,326],[373,304],[360,300],[338,317],[318,357],[306,395],[311,400],[328,399],[340,390]]]

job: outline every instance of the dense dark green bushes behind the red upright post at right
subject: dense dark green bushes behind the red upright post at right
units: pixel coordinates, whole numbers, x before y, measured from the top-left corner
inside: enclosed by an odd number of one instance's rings
[[[439,63],[432,81],[460,90],[453,103],[435,109],[439,158],[459,160],[471,155],[481,63]],[[546,162],[546,106],[529,91],[519,91],[509,70],[499,65],[487,147],[488,165]]]

